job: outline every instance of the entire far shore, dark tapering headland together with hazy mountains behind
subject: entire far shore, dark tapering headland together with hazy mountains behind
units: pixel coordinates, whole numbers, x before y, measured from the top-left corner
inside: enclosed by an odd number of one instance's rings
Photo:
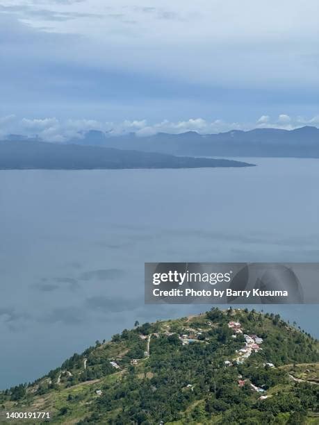
[[[113,136],[91,130],[67,143],[8,135],[0,142],[0,169],[121,169],[247,167],[238,161],[190,157],[319,158],[319,128],[256,128],[200,135],[135,133]]]

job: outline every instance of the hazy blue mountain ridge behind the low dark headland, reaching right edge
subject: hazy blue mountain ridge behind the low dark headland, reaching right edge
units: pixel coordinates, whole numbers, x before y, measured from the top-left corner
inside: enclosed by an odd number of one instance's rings
[[[319,128],[311,126],[291,131],[256,128],[208,135],[194,131],[177,135],[158,133],[149,137],[138,137],[135,133],[110,136],[101,131],[88,131],[82,139],[71,142],[186,156],[319,158]]]

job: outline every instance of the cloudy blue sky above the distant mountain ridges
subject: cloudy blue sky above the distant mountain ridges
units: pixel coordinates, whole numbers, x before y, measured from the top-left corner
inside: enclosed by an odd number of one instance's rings
[[[0,136],[319,126],[318,2],[0,0]]]

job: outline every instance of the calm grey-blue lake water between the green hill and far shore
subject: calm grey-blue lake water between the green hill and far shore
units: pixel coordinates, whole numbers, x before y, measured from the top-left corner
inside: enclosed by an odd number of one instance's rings
[[[1,171],[0,388],[140,322],[144,263],[319,260],[319,160],[238,169]],[[263,306],[319,336],[318,306]]]

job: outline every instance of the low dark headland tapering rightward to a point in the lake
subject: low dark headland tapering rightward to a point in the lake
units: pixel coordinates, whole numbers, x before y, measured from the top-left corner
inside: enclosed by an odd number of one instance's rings
[[[223,159],[188,158],[98,146],[57,144],[36,140],[0,142],[0,169],[129,169],[250,167]]]

